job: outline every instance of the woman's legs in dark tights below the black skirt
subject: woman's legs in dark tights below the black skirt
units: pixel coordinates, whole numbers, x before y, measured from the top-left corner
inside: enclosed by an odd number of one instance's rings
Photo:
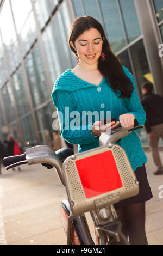
[[[148,245],[145,202],[123,206],[116,212],[122,223],[122,233],[129,237],[130,245]]]

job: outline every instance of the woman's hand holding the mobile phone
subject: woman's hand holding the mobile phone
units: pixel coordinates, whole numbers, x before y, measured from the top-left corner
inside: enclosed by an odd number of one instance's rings
[[[111,126],[111,128],[115,128],[115,127],[118,126],[119,123],[120,123],[119,121],[117,121],[117,122],[112,121],[110,123],[101,125],[100,121],[96,121],[92,125],[92,135],[94,135],[94,136],[101,136],[101,133],[105,132],[110,126]]]

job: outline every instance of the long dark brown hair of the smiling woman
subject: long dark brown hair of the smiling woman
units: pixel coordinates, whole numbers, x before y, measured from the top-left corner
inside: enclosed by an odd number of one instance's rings
[[[102,52],[105,54],[103,62],[102,57],[98,59],[98,69],[102,75],[108,78],[111,88],[117,94],[120,90],[119,97],[131,97],[133,93],[133,84],[124,74],[122,65],[118,57],[112,52],[108,39],[106,38],[102,25],[91,16],[83,16],[74,20],[71,25],[70,36],[68,39],[71,50],[76,54],[76,50],[71,46],[70,41],[74,42],[84,31],[90,28],[96,28],[103,39]],[[129,86],[130,84],[130,86]]]

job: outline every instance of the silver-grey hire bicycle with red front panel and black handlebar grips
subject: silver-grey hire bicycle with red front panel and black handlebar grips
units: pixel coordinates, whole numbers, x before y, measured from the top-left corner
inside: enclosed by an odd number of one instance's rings
[[[46,145],[37,145],[26,149],[24,154],[5,157],[3,163],[7,170],[27,163],[41,163],[57,170],[68,196],[60,206],[67,245],[95,245],[85,217],[88,211],[95,226],[97,245],[129,245],[114,204],[138,194],[139,182],[126,152],[115,142],[141,128],[117,127],[103,132],[98,148],[80,154],[74,154],[70,148],[54,151]]]

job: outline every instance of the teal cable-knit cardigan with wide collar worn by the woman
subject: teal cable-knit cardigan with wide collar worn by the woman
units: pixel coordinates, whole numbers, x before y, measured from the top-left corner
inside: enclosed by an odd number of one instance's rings
[[[136,87],[133,75],[127,68],[122,66],[124,73],[130,78],[134,86],[134,91],[128,98],[119,98],[118,95],[112,90],[109,82],[106,82],[104,77],[99,86],[91,84],[77,77],[67,69],[55,81],[52,100],[58,111],[59,124],[62,137],[69,143],[78,144],[79,153],[85,150],[99,147],[99,139],[92,135],[90,125],[87,124],[83,127],[76,127],[76,129],[67,129],[65,127],[65,107],[69,107],[69,113],[72,111],[111,111],[111,117],[115,117],[116,121],[119,116],[124,113],[132,113],[139,125],[143,125],[146,121],[146,114],[137,96]],[[63,114],[63,120],[61,114]],[[106,118],[106,115],[105,115]],[[71,122],[74,117],[70,117]],[[82,120],[81,120],[82,124]],[[126,151],[131,166],[135,171],[137,167],[141,167],[143,163],[147,162],[147,157],[142,149],[141,142],[137,136],[136,131],[129,133],[128,136],[121,139],[121,142],[116,144]]]

